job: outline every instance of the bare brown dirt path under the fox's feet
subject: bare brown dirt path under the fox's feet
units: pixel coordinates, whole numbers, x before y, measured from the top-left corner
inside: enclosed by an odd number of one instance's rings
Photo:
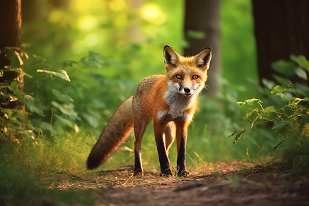
[[[124,167],[93,178],[58,174],[41,181],[55,190],[96,192],[95,205],[309,205],[309,173],[292,172],[289,163],[233,161],[199,169],[186,178],[151,171],[133,176]],[[69,204],[43,198],[30,205]]]

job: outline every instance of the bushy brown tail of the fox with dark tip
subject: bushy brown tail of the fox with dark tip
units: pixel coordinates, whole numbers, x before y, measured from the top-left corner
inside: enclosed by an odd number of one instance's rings
[[[104,163],[133,132],[132,98],[133,96],[124,101],[109,119],[87,159],[89,170],[98,168],[100,164]]]

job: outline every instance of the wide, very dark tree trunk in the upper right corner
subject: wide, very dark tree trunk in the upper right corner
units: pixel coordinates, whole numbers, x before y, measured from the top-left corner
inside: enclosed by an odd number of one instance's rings
[[[258,73],[274,80],[271,63],[290,54],[309,57],[309,1],[253,0]]]

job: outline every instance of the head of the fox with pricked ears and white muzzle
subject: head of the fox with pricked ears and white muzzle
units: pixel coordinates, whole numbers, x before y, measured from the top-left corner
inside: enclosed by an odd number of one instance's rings
[[[170,89],[187,97],[201,92],[207,80],[211,60],[210,47],[206,47],[196,56],[183,57],[166,45],[163,57]]]

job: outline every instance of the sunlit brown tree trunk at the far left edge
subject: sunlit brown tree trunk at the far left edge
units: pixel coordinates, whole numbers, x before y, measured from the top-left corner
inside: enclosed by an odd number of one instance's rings
[[[16,52],[20,52],[21,47],[21,0],[2,0],[0,1],[0,69],[3,69],[3,76],[0,82],[12,82],[18,80],[23,82],[23,75],[16,71],[9,70],[10,60],[5,57],[3,49],[5,47],[16,47]],[[22,68],[17,68],[21,71]],[[21,84],[21,88],[22,88]],[[16,102],[8,105],[8,107],[16,106]]]

